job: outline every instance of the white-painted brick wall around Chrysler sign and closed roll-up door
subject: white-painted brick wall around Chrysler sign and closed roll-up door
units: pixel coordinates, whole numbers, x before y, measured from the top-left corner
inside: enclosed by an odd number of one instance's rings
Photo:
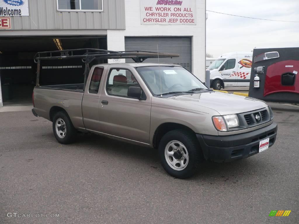
[[[196,25],[141,25],[140,0],[125,0],[125,14],[126,30],[107,31],[109,50],[124,50],[125,36],[192,36],[192,72],[205,81],[205,0],[196,0]]]

